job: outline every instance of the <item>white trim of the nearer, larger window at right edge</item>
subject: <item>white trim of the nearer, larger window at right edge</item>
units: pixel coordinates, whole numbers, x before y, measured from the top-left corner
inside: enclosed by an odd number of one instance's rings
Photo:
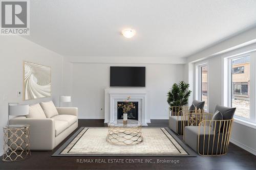
[[[245,46],[222,55],[222,105],[230,106],[231,102],[231,69],[230,58],[250,55],[250,119],[234,115],[234,122],[256,129],[256,44]]]

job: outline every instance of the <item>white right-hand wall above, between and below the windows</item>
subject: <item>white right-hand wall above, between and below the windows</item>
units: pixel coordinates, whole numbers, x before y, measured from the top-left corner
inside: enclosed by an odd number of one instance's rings
[[[219,44],[209,47],[200,53],[188,57],[186,69],[188,69],[188,64],[193,64],[193,62],[202,61],[207,58],[209,66],[208,100],[210,113],[214,111],[214,108],[217,104],[222,104],[222,58],[221,55],[218,54],[221,51],[227,52],[233,50],[236,47],[244,46],[244,44],[249,44],[248,42],[255,42],[255,40],[256,28],[248,30],[247,32],[241,33]],[[239,145],[239,147],[242,147],[243,149],[246,149],[247,151],[256,154],[256,129],[239,123],[234,123],[230,141],[234,144]]]

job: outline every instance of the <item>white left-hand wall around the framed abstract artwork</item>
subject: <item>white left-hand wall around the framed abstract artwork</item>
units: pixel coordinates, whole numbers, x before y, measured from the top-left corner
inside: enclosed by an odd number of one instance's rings
[[[23,61],[51,66],[52,98],[23,102],[17,91],[23,90]],[[58,105],[62,81],[62,56],[47,50],[19,36],[0,37],[0,155],[3,154],[3,127],[8,122],[8,103],[18,102],[34,104],[49,101]],[[23,92],[23,91],[22,91]],[[6,100],[4,100],[6,96]]]

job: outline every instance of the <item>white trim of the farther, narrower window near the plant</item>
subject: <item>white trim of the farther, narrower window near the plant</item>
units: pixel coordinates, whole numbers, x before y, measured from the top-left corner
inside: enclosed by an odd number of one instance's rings
[[[204,108],[205,112],[209,112],[209,61],[204,60],[195,64],[195,99],[201,101],[201,67],[207,66],[208,75],[207,75],[207,108]]]

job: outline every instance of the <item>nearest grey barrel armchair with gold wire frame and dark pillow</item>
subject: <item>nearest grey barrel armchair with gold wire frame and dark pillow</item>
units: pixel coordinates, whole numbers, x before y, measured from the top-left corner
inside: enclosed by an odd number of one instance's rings
[[[184,141],[202,156],[219,156],[227,153],[236,108],[217,105],[214,114],[192,113],[194,120],[184,126]],[[193,118],[194,116],[194,118]],[[184,117],[189,117],[185,115]],[[199,118],[198,120],[195,117]],[[200,120],[201,119],[201,120]]]

